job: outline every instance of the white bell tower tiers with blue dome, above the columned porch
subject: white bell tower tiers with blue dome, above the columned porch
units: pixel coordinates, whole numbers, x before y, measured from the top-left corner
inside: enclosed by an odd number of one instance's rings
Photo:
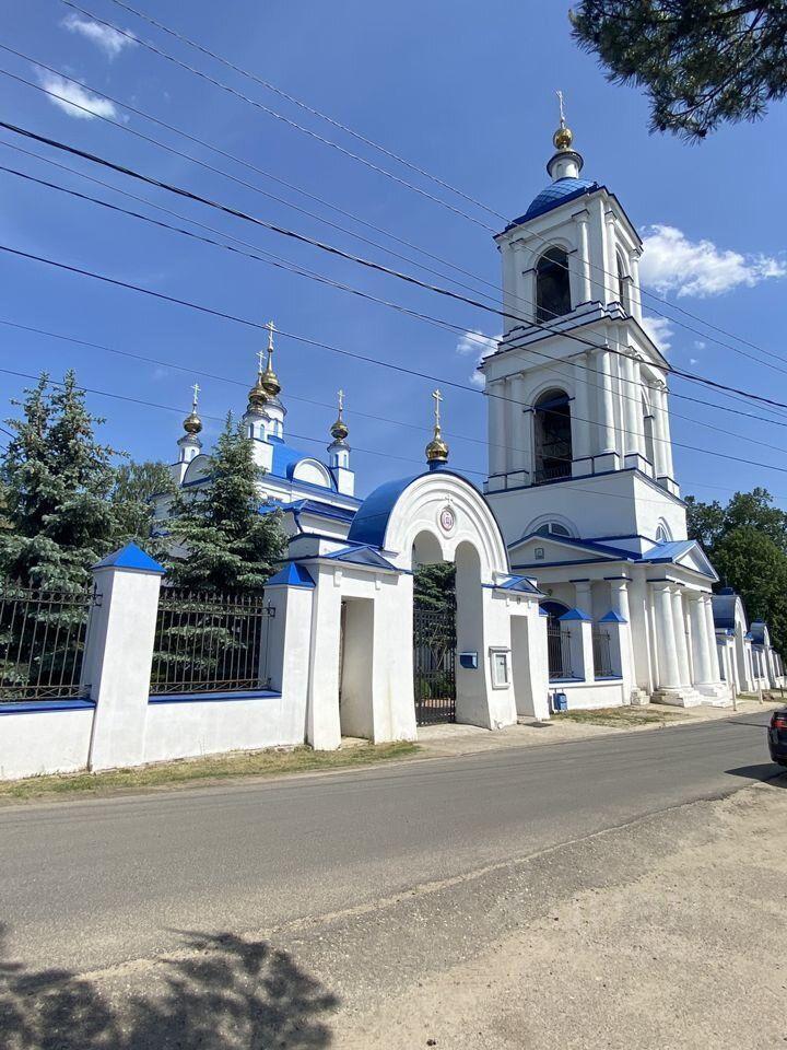
[[[509,544],[550,508],[572,511],[577,536],[635,534],[642,522],[624,526],[611,497],[646,491],[679,538],[667,361],[642,325],[642,241],[615,195],[583,177],[562,97],[552,141],[550,184],[495,237],[506,317],[481,365],[486,494]]]

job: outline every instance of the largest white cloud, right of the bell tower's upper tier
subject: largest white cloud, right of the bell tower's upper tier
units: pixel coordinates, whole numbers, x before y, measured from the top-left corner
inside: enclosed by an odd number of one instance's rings
[[[690,241],[676,226],[655,225],[645,230],[639,276],[643,284],[662,294],[702,298],[787,277],[787,262],[774,256],[718,248],[713,241]]]

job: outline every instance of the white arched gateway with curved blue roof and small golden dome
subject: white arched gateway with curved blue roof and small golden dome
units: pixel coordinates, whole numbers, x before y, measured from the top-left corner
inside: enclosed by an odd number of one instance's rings
[[[291,679],[301,678],[314,746],[416,737],[413,578],[423,563],[456,565],[450,718],[498,728],[518,713],[548,713],[541,595],[512,575],[486,500],[444,462],[375,489],[345,540],[295,537],[291,556],[286,580],[274,578],[267,593],[284,650],[290,638],[308,650],[308,675],[293,668]]]

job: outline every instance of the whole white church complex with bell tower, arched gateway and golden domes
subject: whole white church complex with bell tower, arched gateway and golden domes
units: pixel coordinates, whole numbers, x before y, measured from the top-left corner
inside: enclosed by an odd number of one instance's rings
[[[782,680],[767,628],[750,631],[737,596],[713,598],[716,573],[686,536],[667,362],[642,323],[639,236],[614,194],[583,176],[563,119],[554,147],[551,183],[495,238],[506,323],[480,365],[483,493],[448,466],[438,392],[424,471],[364,500],[341,394],[326,456],[292,447],[269,326],[243,416],[260,513],[280,509],[290,537],[266,590],[268,680],[316,746],[413,738],[435,711],[494,728],[547,718],[557,697],[727,703]],[[195,393],[172,465],[184,489],[210,483],[201,425]],[[457,611],[435,677],[423,673],[413,570],[439,561],[456,564]],[[446,702],[430,699],[437,679]]]

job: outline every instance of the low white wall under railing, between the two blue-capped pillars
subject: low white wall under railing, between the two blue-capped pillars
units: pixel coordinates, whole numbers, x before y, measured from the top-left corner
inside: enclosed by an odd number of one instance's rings
[[[286,702],[268,696],[149,703],[143,761],[302,744],[303,733],[295,736],[287,726]]]

